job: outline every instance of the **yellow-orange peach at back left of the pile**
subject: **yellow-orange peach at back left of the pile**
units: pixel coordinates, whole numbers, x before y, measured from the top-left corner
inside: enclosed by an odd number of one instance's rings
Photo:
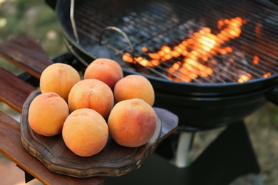
[[[80,80],[78,71],[66,63],[49,65],[40,78],[41,93],[57,93],[68,101],[68,93],[74,84]]]

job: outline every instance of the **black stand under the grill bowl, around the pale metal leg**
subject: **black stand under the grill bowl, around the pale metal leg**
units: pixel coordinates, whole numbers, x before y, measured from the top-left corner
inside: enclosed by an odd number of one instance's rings
[[[189,135],[182,137],[188,139]],[[104,176],[105,184],[223,185],[232,183],[240,176],[258,175],[260,172],[243,121],[227,126],[192,164],[183,168],[171,164],[168,159],[162,157],[159,154],[160,147],[138,170],[124,176]],[[169,146],[165,147],[167,148],[169,149]]]

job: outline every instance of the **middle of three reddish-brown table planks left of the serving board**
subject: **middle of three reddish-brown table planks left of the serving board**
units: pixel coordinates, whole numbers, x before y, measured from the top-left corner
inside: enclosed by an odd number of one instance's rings
[[[21,113],[26,98],[34,90],[34,86],[0,68],[0,100],[6,105]]]

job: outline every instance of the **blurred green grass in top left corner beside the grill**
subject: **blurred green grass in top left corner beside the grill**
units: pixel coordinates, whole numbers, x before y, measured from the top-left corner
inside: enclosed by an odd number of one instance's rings
[[[6,25],[0,27],[1,43],[26,35],[38,39],[49,58],[66,52],[56,12],[44,0],[5,1],[1,4],[0,18],[6,18]]]

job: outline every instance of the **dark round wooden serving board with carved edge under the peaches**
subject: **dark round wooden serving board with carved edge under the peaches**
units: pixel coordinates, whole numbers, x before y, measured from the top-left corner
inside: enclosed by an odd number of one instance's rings
[[[34,97],[39,94],[41,92],[35,90],[24,103],[21,114],[21,142],[30,154],[53,172],[78,178],[120,176],[138,169],[144,159],[158,147],[162,127],[160,119],[158,119],[157,130],[153,137],[141,147],[123,147],[109,137],[100,153],[91,157],[79,157],[66,147],[61,134],[44,137],[34,132],[29,126],[29,106]]]

